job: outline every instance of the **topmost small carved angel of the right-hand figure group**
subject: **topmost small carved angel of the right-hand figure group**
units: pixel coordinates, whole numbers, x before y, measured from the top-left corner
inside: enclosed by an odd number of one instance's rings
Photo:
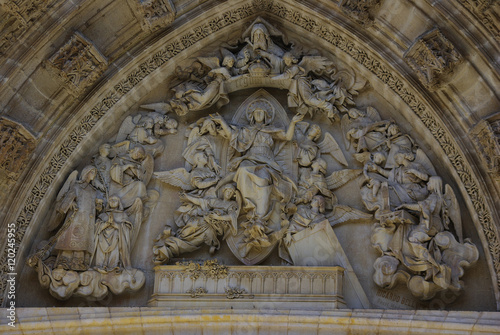
[[[366,112],[351,108],[341,122],[346,148],[352,144],[358,153],[383,149],[388,125],[373,107],[368,107]]]

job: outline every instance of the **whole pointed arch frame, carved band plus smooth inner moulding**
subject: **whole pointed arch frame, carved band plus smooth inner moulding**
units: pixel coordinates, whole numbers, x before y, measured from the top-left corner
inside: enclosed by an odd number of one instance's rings
[[[495,210],[498,204],[494,200],[497,193],[492,186],[494,182],[485,173],[484,166],[481,166],[479,154],[474,153],[467,137],[467,128],[463,125],[465,123],[472,126],[476,116],[459,121],[459,126],[451,126],[455,124],[452,120],[457,119],[459,113],[445,112],[453,110],[452,102],[446,99],[447,91],[430,91],[420,83],[413,70],[402,60],[401,50],[404,48],[400,47],[398,50],[396,43],[378,38],[380,35],[377,34],[381,34],[381,30],[368,33],[359,29],[359,26],[342,16],[338,10],[330,11],[326,3],[317,8],[288,1],[235,1],[213,7],[210,5],[211,3],[206,4],[207,8],[202,15],[193,10],[189,20],[174,22],[171,28],[157,33],[129,55],[112,62],[114,66],[108,66],[104,77],[92,91],[78,98],[70,96],[71,103],[66,103],[66,106],[71,106],[72,116],[58,124],[63,129],[61,132],[48,131],[48,135],[41,136],[36,154],[31,157],[26,172],[16,184],[15,191],[10,194],[12,198],[15,195],[17,200],[11,206],[14,209],[5,213],[3,224],[6,226],[10,222],[16,222],[20,259],[25,259],[30,252],[51,202],[67,174],[84,157],[92,154],[92,148],[106,139],[107,131],[113,127],[117,129],[120,123],[117,121],[123,120],[143,103],[141,98],[151,89],[165,84],[165,78],[184,59],[216,46],[219,44],[217,41],[234,40],[237,32],[260,15],[279,25],[283,31],[290,32],[290,39],[306,36],[302,39],[309,40],[310,45],[321,47],[322,53],[334,55],[339,63],[359,71],[371,85],[383,87],[380,94],[389,101],[393,110],[402,112],[402,116],[394,115],[396,120],[406,118],[418,122],[413,128],[416,128],[424,145],[434,151],[435,159],[444,158],[439,168],[450,173],[449,178],[459,187],[467,204],[485,250],[498,303],[499,218]],[[429,9],[422,9],[423,12],[426,10]],[[441,14],[434,15],[439,17]],[[331,24],[332,21],[335,23]],[[208,27],[210,32],[203,32],[203,27]],[[430,29],[422,27],[420,30],[425,33]],[[421,34],[415,35],[417,38]],[[458,36],[458,33],[453,34],[453,39],[456,40]],[[412,41],[405,42],[411,44]],[[467,43],[471,43],[470,40]],[[384,50],[388,45],[393,49]],[[48,53],[46,47],[45,51],[42,49],[43,47],[39,48],[39,53]],[[394,49],[399,53],[391,54]],[[468,47],[466,50],[468,51]],[[485,65],[488,61],[487,52],[486,56],[484,54],[474,63],[481,69],[481,73],[484,71],[482,69],[488,67]],[[467,54],[465,58],[471,62],[473,57]],[[463,68],[458,68],[456,72],[458,74],[455,74],[451,82],[467,73]],[[487,78],[485,75],[484,81],[487,86],[494,87],[497,78],[493,75],[491,77]],[[50,116],[62,106],[64,104],[61,103],[47,107],[44,113]],[[42,133],[42,129],[39,132]],[[13,204],[12,200],[5,202],[11,203]],[[6,266],[4,261],[5,273]],[[22,264],[19,262],[18,272],[21,272],[21,268]]]

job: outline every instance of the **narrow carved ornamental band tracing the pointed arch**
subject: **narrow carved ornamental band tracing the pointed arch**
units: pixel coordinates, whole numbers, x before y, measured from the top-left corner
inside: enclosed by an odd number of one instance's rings
[[[100,120],[108,113],[108,111],[117,106],[137,91],[137,87],[144,84],[146,78],[154,78],[154,72],[166,66],[173,66],[173,60],[176,56],[182,56],[201,48],[201,46],[213,42],[213,34],[221,31],[230,31],[238,22],[246,22],[255,18],[257,15],[264,17],[268,16],[271,19],[278,19],[293,24],[298,30],[304,31],[311,35],[315,35],[337,50],[342,51],[348,57],[355,60],[359,65],[376,76],[388,88],[390,88],[402,101],[417,115],[422,123],[432,133],[435,140],[441,146],[446,154],[451,165],[455,169],[456,176],[462,185],[462,193],[467,196],[467,201],[471,204],[474,211],[471,210],[471,216],[478,228],[479,235],[485,247],[485,254],[488,259],[490,271],[492,273],[493,287],[499,303],[499,287],[500,287],[500,243],[499,236],[493,219],[490,205],[487,202],[487,197],[482,190],[479,178],[475,176],[471,164],[466,159],[466,155],[459,147],[458,143],[453,139],[452,134],[446,129],[444,123],[437,116],[437,113],[430,105],[423,100],[418,91],[412,84],[404,79],[402,75],[397,74],[390,65],[384,64],[384,61],[376,56],[376,53],[370,50],[367,46],[361,44],[340,31],[335,26],[328,24],[326,19],[313,17],[308,14],[306,8],[299,10],[297,4],[284,4],[282,2],[268,1],[242,1],[237,5],[220,6],[218,10],[212,9],[211,13],[215,15],[203,15],[204,21],[192,20],[187,28],[178,27],[176,31],[169,36],[172,36],[168,43],[158,51],[150,53],[144,51],[136,59],[143,59],[142,62],[135,62],[129,70],[122,69],[117,71],[114,78],[109,79],[109,83],[94,91],[93,96],[89,96],[87,104],[81,108],[85,108],[86,112],[78,115],[83,115],[77,125],[67,133],[66,138],[59,141],[59,147],[52,151],[54,154],[49,159],[45,160],[45,165],[38,171],[38,177],[33,177],[33,187],[26,196],[19,214],[16,219],[16,245],[23,245],[24,237],[28,227],[36,221],[36,213],[45,197],[49,197],[49,193],[54,192],[54,185],[58,182],[57,176],[68,168],[70,156],[77,155],[77,148],[81,146],[86,135],[92,131]],[[221,12],[220,8],[226,9]],[[322,21],[324,20],[324,21]],[[167,36],[168,38],[168,36]],[[163,43],[164,40],[161,40]],[[156,42],[159,45],[159,41]],[[152,50],[155,48],[149,48]],[[119,78],[119,79],[115,79]],[[117,82],[118,80],[118,82]],[[97,97],[99,100],[96,100]],[[87,108],[90,101],[96,101],[90,108]],[[125,104],[126,105],[126,104]],[[36,179],[35,179],[36,178]],[[469,208],[471,208],[469,206]],[[475,212],[475,213],[474,213]],[[480,228],[480,229],[479,229]],[[20,250],[21,251],[21,250]],[[5,250],[4,250],[5,252]],[[6,276],[9,267],[6,257],[1,260],[2,275]],[[23,266],[22,262],[18,262],[18,269]],[[6,289],[5,278],[1,281],[2,293],[4,297]],[[4,299],[2,299],[3,303]]]

